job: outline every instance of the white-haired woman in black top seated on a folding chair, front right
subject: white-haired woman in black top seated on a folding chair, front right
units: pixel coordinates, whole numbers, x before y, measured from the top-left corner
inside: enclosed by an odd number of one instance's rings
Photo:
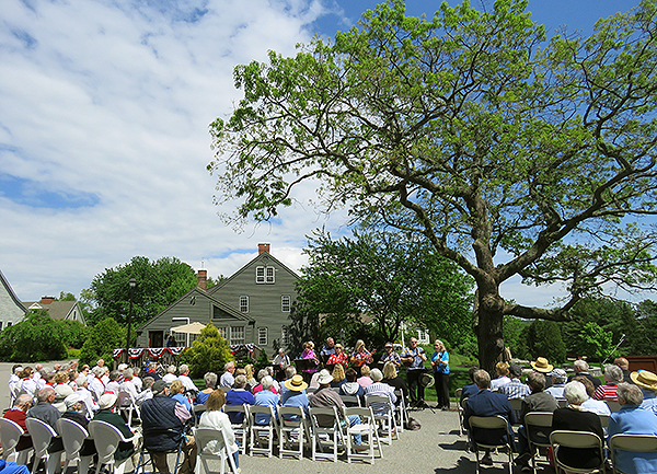
[[[581,382],[569,382],[564,389],[568,402],[565,408],[557,408],[552,415],[552,430],[589,431],[604,440],[600,417],[581,406],[588,400],[586,388]],[[595,469],[600,465],[600,451],[596,448],[560,448],[558,460],[566,465],[578,469]]]

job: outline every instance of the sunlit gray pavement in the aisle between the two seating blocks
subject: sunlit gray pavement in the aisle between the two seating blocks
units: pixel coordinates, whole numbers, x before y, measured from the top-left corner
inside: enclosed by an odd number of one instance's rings
[[[54,362],[51,362],[54,363]],[[0,362],[0,388],[7,388],[11,363]],[[9,406],[9,394],[0,389],[0,406]],[[405,430],[392,446],[383,446],[383,458],[371,466],[362,461],[347,464],[344,456],[337,462],[318,460],[301,461],[292,458],[266,458],[264,455],[240,456],[244,474],[291,474],[291,473],[404,473],[404,474],[473,474],[476,471],[474,454],[465,451],[465,437],[459,436],[457,412],[413,411],[411,416],[422,424],[417,431]],[[502,454],[496,459],[502,460]],[[129,469],[129,467],[128,467]],[[482,474],[508,472],[506,465],[484,467]],[[70,473],[70,471],[69,471]],[[540,469],[540,474],[553,473]]]

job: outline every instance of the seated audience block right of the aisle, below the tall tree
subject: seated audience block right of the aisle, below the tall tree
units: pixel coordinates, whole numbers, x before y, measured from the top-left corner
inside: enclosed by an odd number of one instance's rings
[[[532,452],[528,442],[526,417],[535,412],[552,414],[551,429],[539,438],[539,441],[548,443],[549,433],[554,430],[588,431],[608,444],[614,435],[657,436],[655,373],[647,370],[629,372],[629,363],[624,358],[604,367],[604,383],[589,373],[584,360],[575,362],[575,374],[569,379],[565,370],[555,369],[544,358],[538,358],[531,366],[526,383],[521,381],[522,369],[514,363],[498,362],[498,377],[494,380],[485,370],[470,370],[472,383],[462,389],[460,403],[463,407],[463,426],[469,431],[473,448],[477,443],[489,446],[508,442],[518,454],[516,465],[522,472],[532,471],[530,461],[535,452]],[[514,400],[521,400],[519,411],[511,407]],[[614,408],[618,407],[618,411],[612,413],[609,404],[616,402]],[[508,426],[502,431],[472,428],[472,416],[502,416]],[[512,430],[516,424],[519,425],[517,433]],[[484,451],[480,462],[489,465],[493,463],[491,451]],[[556,461],[573,469],[596,469],[609,462],[604,454],[601,458],[600,452],[600,449],[562,447],[556,451]],[[620,472],[657,472],[657,452],[616,449],[613,454],[615,469]]]

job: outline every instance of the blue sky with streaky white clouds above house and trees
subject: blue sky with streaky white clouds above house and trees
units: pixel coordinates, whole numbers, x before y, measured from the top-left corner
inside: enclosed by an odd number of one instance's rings
[[[624,0],[530,0],[548,32],[584,34]],[[345,231],[345,216],[300,199],[275,224],[235,232],[217,216],[208,124],[241,91],[235,65],[293,55],[333,37],[377,1],[2,0],[0,10],[0,270],[22,301],[80,294],[136,255],[175,256],[230,276],[268,242],[299,270],[306,235]],[[431,16],[439,2],[407,0]],[[456,4],[453,0],[450,4]],[[473,0],[475,7],[482,3]],[[301,196],[312,195],[311,188]],[[558,287],[505,298],[549,305]]]

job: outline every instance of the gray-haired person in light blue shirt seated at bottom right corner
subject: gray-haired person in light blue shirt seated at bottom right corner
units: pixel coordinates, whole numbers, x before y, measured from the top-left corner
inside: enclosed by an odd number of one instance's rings
[[[657,416],[639,407],[643,403],[641,389],[621,383],[616,394],[621,409],[611,414],[609,438],[622,433],[657,436]],[[657,452],[616,451],[614,460],[614,467],[626,474],[657,472]]]

